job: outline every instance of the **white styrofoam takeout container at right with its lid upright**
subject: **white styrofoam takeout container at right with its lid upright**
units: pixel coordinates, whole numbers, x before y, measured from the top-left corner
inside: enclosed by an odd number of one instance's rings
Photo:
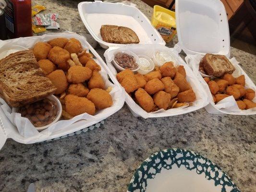
[[[229,24],[222,2],[220,0],[176,0],[175,10],[179,40],[176,46],[182,48],[186,53],[186,63],[191,66],[195,76],[200,80],[208,94],[207,112],[232,115],[256,114],[256,109],[240,110],[234,99],[232,101],[233,111],[228,109],[228,106],[230,106],[228,103],[224,108],[217,107],[211,94],[209,94],[209,87],[206,86],[207,84],[198,72],[198,61],[200,62],[207,53],[224,55],[230,58]],[[238,65],[238,62],[234,59],[231,62],[236,70],[245,75],[246,88],[252,88],[256,91],[255,84]]]

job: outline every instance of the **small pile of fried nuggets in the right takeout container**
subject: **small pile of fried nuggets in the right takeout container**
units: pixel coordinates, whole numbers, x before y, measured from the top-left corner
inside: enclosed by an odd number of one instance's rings
[[[238,107],[242,110],[256,107],[256,103],[252,101],[255,97],[255,91],[244,87],[244,75],[235,78],[226,73],[219,79],[211,80],[209,77],[205,77],[204,80],[209,86],[215,103],[228,96],[233,96]]]

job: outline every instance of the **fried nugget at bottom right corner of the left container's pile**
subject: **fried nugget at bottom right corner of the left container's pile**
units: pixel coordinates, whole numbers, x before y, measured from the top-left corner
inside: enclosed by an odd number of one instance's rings
[[[109,108],[113,105],[112,97],[103,89],[91,89],[86,98],[92,101],[97,109]]]

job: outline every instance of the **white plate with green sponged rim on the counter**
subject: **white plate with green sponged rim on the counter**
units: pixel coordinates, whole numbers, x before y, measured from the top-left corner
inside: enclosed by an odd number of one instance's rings
[[[240,192],[209,159],[184,149],[165,149],[136,170],[128,192]]]

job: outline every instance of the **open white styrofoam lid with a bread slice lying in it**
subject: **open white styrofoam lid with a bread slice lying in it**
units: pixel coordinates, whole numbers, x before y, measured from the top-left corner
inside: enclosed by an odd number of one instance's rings
[[[102,48],[125,46],[124,44],[104,42],[100,36],[100,27],[103,24],[131,28],[139,37],[139,44],[165,45],[158,31],[136,7],[96,0],[95,2],[80,2],[78,11],[85,27]]]

